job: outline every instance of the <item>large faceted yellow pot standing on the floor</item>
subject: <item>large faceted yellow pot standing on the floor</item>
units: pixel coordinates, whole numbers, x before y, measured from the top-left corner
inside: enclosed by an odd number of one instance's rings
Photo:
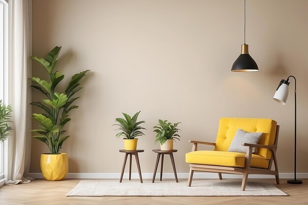
[[[68,157],[66,153],[41,154],[41,171],[46,180],[63,180],[68,173]]]

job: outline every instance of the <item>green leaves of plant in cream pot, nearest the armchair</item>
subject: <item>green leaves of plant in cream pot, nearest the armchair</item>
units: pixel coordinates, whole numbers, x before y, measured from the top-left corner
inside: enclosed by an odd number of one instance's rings
[[[154,126],[156,128],[153,132],[156,132],[155,143],[159,142],[160,145],[164,144],[167,140],[180,140],[180,135],[177,133],[180,129],[177,128],[178,124],[181,122],[177,122],[172,124],[167,120],[158,119],[158,126]]]

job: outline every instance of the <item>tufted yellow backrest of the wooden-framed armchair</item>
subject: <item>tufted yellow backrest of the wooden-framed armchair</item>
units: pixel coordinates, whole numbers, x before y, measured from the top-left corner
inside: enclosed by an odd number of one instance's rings
[[[277,122],[273,119],[263,118],[227,118],[219,120],[218,133],[216,138],[216,151],[227,151],[238,129],[245,132],[263,132],[258,144],[274,145]],[[258,148],[256,153],[271,159],[272,152],[266,148]]]

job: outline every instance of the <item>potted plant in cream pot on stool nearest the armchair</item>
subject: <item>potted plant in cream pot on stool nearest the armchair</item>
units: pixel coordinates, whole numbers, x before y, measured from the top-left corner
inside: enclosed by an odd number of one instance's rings
[[[181,138],[181,136],[177,134],[180,130],[177,126],[181,122],[172,124],[167,120],[158,119],[158,123],[158,126],[154,126],[156,129],[153,131],[157,133],[155,143],[160,143],[160,150],[172,150],[173,141],[175,141],[175,139],[180,140]]]

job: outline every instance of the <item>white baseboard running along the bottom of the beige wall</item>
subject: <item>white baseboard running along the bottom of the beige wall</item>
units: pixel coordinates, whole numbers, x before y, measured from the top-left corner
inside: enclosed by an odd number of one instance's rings
[[[33,178],[44,178],[41,173],[30,173],[30,177]],[[66,178],[85,178],[85,179],[118,179],[120,178],[120,173],[68,173]],[[308,178],[308,173],[298,173],[297,178],[305,179]],[[142,178],[148,179],[152,178],[153,173],[143,173]],[[174,178],[173,173],[163,173],[163,178]],[[194,173],[194,178],[218,178],[217,173]],[[280,173],[279,177],[281,179],[292,179],[294,178],[294,173]],[[125,173],[123,178],[128,178],[128,174]],[[138,179],[138,173],[131,173],[131,178]],[[156,174],[156,178],[159,178],[159,174]],[[188,173],[178,173],[178,178],[188,178]],[[231,175],[222,174],[222,178],[242,178],[242,175]],[[249,175],[248,178],[275,178],[273,175]]]

